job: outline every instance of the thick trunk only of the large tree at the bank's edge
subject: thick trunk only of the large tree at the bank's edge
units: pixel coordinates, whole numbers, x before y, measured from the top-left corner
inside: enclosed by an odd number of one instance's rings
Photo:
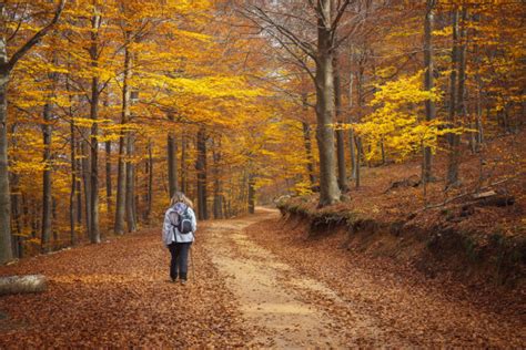
[[[334,75],[331,0],[320,0],[316,58],[316,140],[320,152],[320,207],[337,203],[341,192],[334,159]]]

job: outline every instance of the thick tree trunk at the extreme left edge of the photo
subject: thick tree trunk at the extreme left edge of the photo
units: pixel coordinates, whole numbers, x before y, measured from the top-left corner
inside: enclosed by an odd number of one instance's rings
[[[4,4],[0,4],[0,19],[4,18]],[[9,70],[7,41],[0,34],[0,264],[12,260],[11,245],[11,198],[8,169],[8,82]]]

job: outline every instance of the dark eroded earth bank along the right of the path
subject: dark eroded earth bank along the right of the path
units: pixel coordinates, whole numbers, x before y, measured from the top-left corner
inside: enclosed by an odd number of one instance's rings
[[[310,210],[294,203],[281,204],[280,209],[289,227],[301,225],[311,238],[342,231],[342,247],[347,250],[393,258],[428,278],[455,279],[481,296],[497,292],[510,303],[524,298],[526,239],[522,236],[488,236],[462,229],[455,223],[375,219],[348,210]]]

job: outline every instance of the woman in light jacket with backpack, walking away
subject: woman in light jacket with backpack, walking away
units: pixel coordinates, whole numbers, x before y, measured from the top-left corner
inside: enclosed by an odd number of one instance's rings
[[[181,284],[186,284],[189,250],[195,239],[195,230],[198,223],[195,213],[192,209],[192,200],[186,196],[176,192],[170,202],[170,208],[164,214],[164,224],[162,227],[162,240],[170,249],[172,260],[170,262],[170,278],[173,282],[179,279]],[[189,220],[190,227],[181,228],[180,223]]]

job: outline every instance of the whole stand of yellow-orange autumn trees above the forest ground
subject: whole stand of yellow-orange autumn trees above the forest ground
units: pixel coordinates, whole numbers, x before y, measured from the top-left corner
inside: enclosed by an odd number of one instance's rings
[[[393,162],[458,187],[464,154],[524,123],[523,12],[2,1],[0,262],[158,225],[175,191],[208,219],[284,194],[333,205]]]

